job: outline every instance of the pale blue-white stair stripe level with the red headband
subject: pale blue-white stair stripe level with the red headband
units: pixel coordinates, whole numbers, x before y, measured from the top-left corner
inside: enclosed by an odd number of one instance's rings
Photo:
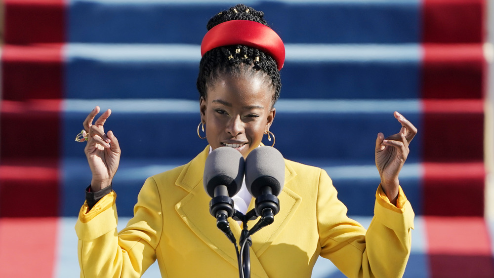
[[[286,44],[286,62],[418,62],[422,48],[407,44]],[[86,59],[106,62],[199,63],[201,50],[194,44],[68,43],[67,61]]]

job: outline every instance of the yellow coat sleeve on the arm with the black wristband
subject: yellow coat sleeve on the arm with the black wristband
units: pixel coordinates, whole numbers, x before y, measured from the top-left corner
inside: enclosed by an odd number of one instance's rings
[[[82,205],[76,223],[81,277],[141,277],[156,260],[163,228],[158,187],[144,183],[134,206],[134,217],[117,233],[116,194],[100,199],[87,211]]]

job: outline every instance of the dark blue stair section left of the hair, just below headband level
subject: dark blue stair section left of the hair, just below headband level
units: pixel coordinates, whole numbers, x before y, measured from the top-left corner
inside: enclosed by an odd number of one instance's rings
[[[199,99],[199,61],[124,63],[71,59],[66,66],[66,97]]]

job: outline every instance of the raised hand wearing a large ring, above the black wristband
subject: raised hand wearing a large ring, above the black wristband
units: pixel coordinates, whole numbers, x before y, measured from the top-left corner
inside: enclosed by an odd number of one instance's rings
[[[99,110],[99,106],[96,106],[82,123],[88,134],[84,152],[92,172],[92,192],[99,191],[112,184],[112,179],[119,167],[121,154],[117,137],[112,131],[108,131],[105,134],[103,128],[112,111],[108,109],[101,114],[94,124],[92,123]]]

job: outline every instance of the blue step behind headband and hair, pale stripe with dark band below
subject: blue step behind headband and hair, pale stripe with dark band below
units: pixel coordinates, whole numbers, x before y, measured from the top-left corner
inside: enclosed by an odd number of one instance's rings
[[[311,51],[311,46],[307,45],[305,52]],[[65,97],[197,100],[199,45],[197,49],[184,46],[183,51],[169,48],[84,48],[69,44],[65,51]],[[287,45],[287,60],[281,71],[282,98],[418,98],[421,51],[418,45],[406,44],[401,48],[405,50],[397,50],[400,46],[323,45],[317,50],[321,55],[312,57],[304,52],[303,46]],[[156,56],[147,54],[149,51]],[[333,55],[325,56],[325,52]],[[182,57],[172,59],[166,55]]]

